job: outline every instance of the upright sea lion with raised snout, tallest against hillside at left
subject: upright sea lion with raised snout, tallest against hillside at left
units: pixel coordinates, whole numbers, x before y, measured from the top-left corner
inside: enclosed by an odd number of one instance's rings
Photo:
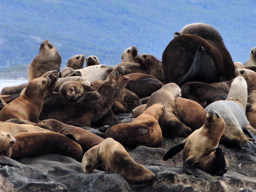
[[[28,67],[28,81],[41,77],[48,71],[60,72],[61,57],[57,49],[48,40],[43,40],[39,53]]]

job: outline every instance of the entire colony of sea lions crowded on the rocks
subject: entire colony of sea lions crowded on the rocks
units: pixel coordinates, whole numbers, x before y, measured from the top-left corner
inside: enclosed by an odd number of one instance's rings
[[[155,174],[124,146],[161,148],[163,137],[185,137],[162,158],[183,150],[184,170],[195,177],[204,177],[198,169],[228,171],[219,142],[256,153],[256,72],[244,67],[255,65],[255,47],[244,66],[234,64],[216,29],[190,24],[175,32],[162,62],[137,52],[126,49],[114,67],[76,55],[60,71],[58,51],[42,41],[29,82],[0,93],[0,155],[56,153],[82,162],[82,173],[119,173],[140,187]]]

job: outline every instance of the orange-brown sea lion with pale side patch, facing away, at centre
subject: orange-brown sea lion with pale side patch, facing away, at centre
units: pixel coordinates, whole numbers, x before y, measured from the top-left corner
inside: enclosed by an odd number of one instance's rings
[[[129,147],[144,145],[146,147],[163,147],[162,131],[158,119],[164,111],[164,104],[150,106],[132,123],[122,123],[110,127],[104,138],[111,137],[115,141]]]

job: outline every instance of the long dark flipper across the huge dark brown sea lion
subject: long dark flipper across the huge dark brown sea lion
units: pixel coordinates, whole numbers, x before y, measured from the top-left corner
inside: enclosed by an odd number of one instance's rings
[[[199,47],[197,48],[197,51],[196,51],[196,55],[195,55],[195,58],[194,58],[194,61],[188,71],[188,73],[186,75],[184,75],[181,79],[181,81],[179,81],[177,83],[177,85],[179,87],[181,87],[183,84],[187,83],[187,82],[190,82],[195,76],[196,76],[196,73],[198,71],[198,67],[199,67],[199,64],[202,62],[202,60],[204,59],[205,57],[205,54],[207,52],[207,50],[210,48],[208,47],[206,50],[204,49],[204,47],[201,47],[202,44],[199,45]]]

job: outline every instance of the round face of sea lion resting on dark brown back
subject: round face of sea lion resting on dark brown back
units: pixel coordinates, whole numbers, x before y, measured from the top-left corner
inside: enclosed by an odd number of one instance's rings
[[[77,81],[67,81],[59,89],[59,95],[66,96],[69,100],[76,100],[82,93],[83,87]]]

